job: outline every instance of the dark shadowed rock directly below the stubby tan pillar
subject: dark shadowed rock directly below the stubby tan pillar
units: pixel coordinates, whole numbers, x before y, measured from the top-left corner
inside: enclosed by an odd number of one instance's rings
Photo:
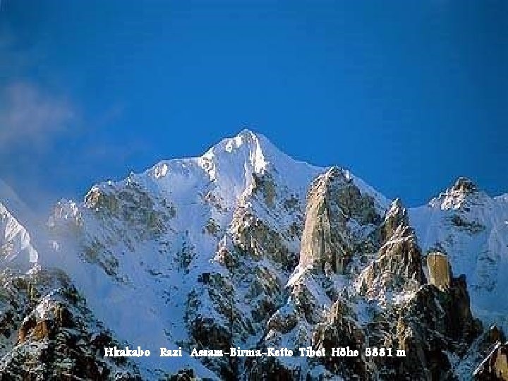
[[[454,364],[447,353],[464,356],[480,332],[464,277],[452,278],[445,290],[425,285],[399,311],[395,337],[406,351],[399,371],[418,380],[452,378]]]

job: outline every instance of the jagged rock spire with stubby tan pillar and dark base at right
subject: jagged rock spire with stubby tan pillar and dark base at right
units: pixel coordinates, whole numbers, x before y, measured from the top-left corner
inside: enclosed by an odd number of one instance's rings
[[[446,256],[432,253],[426,284],[421,250],[399,200],[392,203],[379,231],[377,259],[357,282],[360,294],[382,306],[366,336],[370,346],[406,352],[405,357],[375,359],[379,377],[454,377],[456,365],[447,353],[464,356],[480,333],[480,324],[471,315],[465,277],[452,278]]]

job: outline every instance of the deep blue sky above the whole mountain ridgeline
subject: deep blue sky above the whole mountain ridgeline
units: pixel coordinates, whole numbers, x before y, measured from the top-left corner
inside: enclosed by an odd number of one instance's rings
[[[36,208],[248,127],[420,205],[508,192],[507,1],[25,1],[0,12],[0,178]]]

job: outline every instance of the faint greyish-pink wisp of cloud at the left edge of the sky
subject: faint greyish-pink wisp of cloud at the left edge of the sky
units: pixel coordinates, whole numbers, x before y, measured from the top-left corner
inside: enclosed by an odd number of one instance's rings
[[[8,85],[0,93],[0,146],[43,143],[72,128],[75,109],[66,97],[27,82]]]

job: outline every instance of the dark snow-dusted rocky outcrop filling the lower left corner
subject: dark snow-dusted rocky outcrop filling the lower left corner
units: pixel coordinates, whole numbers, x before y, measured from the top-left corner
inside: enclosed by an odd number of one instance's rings
[[[141,380],[126,358],[104,358],[121,346],[92,317],[62,272],[4,274],[0,313],[3,380]],[[25,303],[23,303],[25,301]],[[21,303],[20,303],[21,302]]]

